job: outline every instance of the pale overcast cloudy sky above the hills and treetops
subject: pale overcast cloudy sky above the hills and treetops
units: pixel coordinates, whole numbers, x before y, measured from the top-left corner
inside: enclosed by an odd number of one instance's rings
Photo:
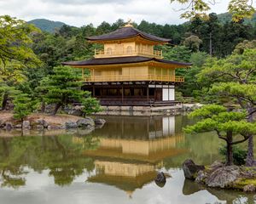
[[[212,12],[227,11],[229,0],[218,0]],[[9,14],[22,20],[48,19],[62,21],[71,26],[92,23],[98,26],[102,21],[113,23],[118,19],[141,20],[157,24],[180,24],[184,8],[170,0],[0,0],[0,15]]]

